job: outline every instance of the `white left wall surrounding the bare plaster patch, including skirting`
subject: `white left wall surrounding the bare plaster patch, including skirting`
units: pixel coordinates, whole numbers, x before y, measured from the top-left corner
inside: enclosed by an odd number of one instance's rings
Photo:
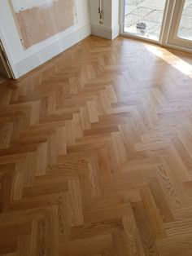
[[[0,0],[0,38],[6,48],[15,77],[24,75],[89,36],[88,0],[76,0],[76,12],[76,25],[24,50],[8,1]]]

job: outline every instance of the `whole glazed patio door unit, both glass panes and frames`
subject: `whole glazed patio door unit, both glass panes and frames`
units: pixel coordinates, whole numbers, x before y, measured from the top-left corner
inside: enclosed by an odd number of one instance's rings
[[[192,0],[121,3],[121,33],[192,52]]]

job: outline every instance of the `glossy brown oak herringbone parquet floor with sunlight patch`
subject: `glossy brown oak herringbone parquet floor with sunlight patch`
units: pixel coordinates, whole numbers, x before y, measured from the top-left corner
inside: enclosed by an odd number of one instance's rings
[[[0,86],[0,255],[192,255],[191,60],[90,37]]]

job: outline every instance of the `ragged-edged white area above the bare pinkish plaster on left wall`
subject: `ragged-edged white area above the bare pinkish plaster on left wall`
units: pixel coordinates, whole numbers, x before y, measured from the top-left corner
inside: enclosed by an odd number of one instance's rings
[[[20,12],[33,7],[50,7],[53,2],[58,0],[12,0],[13,8],[15,12]]]

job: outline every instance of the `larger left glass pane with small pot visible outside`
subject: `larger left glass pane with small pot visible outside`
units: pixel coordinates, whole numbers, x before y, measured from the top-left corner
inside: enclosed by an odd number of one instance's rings
[[[166,0],[124,0],[124,34],[159,41]]]

